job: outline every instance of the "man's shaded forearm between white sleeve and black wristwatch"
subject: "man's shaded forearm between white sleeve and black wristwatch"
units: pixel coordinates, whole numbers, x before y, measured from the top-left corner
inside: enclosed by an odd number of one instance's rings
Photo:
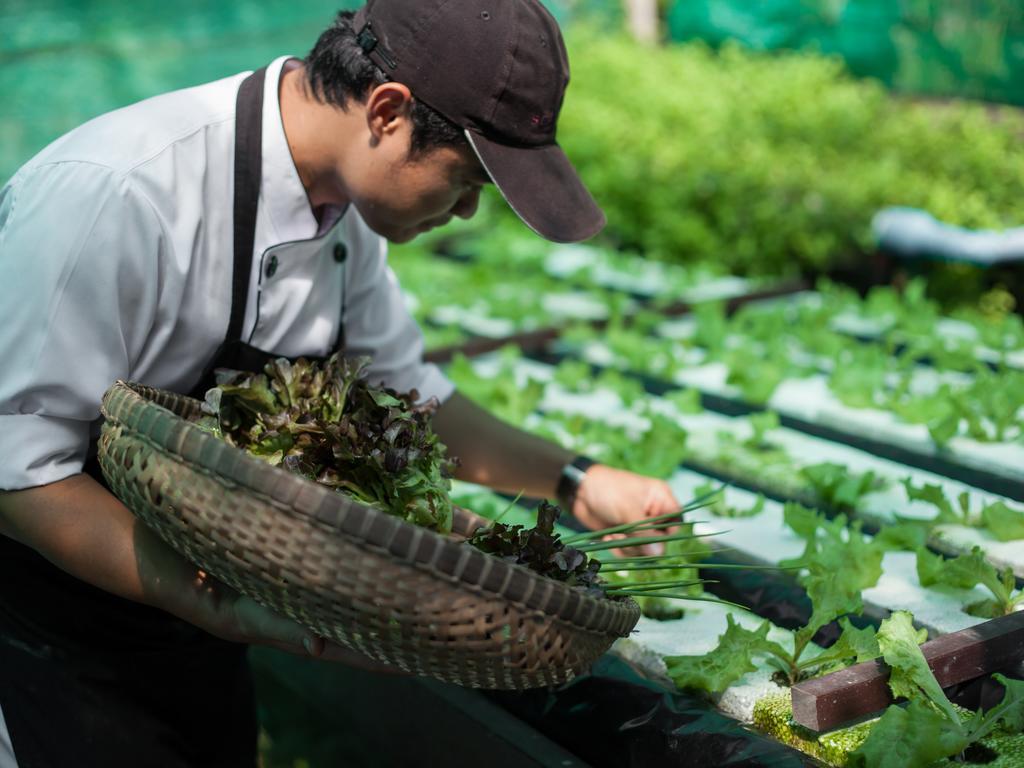
[[[456,392],[434,415],[434,430],[461,466],[461,480],[509,494],[553,499],[562,467],[572,460],[565,449],[531,435]]]

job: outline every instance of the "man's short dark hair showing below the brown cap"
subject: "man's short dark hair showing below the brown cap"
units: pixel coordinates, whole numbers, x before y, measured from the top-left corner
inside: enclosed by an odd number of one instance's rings
[[[388,81],[355,41],[354,15],[350,10],[339,12],[305,58],[306,78],[313,96],[342,110],[347,109],[349,99],[365,101],[373,88]],[[440,146],[469,143],[459,126],[417,99],[415,93],[412,120],[411,157]]]

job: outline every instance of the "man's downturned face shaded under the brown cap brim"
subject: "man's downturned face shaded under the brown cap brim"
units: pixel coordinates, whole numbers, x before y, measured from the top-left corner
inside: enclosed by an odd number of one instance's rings
[[[453,216],[470,218],[489,182],[468,146],[412,158],[399,150],[366,170],[353,202],[370,228],[392,243],[407,243]]]

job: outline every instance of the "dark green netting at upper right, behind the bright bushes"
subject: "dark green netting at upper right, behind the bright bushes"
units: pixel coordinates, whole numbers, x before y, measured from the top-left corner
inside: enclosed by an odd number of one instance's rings
[[[672,0],[673,40],[841,55],[905,92],[1024,104],[1019,0]]]

